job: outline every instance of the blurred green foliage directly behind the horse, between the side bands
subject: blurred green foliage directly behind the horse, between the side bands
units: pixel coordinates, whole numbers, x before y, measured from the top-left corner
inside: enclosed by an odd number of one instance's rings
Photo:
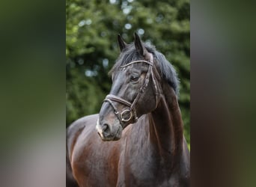
[[[118,58],[118,34],[127,43],[137,32],[174,65],[180,79],[180,110],[190,142],[189,0],[66,0],[67,126],[98,113],[109,93],[107,75]]]

